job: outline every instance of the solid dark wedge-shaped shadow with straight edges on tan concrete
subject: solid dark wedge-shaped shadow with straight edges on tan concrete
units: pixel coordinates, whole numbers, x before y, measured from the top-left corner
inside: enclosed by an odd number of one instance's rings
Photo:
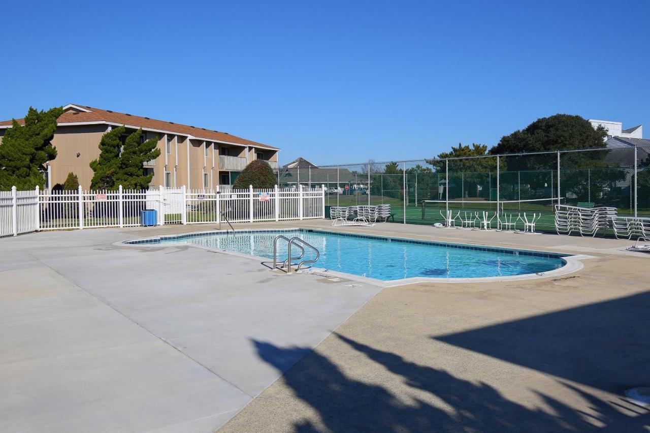
[[[432,338],[614,393],[650,385],[650,292]]]

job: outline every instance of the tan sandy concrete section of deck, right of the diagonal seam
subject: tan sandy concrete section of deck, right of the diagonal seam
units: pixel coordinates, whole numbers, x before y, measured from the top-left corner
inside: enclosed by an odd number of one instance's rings
[[[650,385],[650,257],[611,239],[391,232],[595,258],[558,278],[383,289],[220,432],[650,431],[623,398]]]

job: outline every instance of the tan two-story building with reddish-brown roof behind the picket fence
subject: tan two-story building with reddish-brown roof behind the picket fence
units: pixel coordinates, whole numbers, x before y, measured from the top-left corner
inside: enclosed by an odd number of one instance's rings
[[[0,122],[0,143],[11,125],[11,121]],[[155,138],[158,142],[161,155],[145,164],[146,170],[153,172],[152,186],[213,189],[216,185],[232,185],[253,159],[263,159],[278,168],[279,149],[267,144],[222,131],[68,104],[52,140],[57,158],[47,167],[47,185],[63,183],[72,172],[79,177],[79,185],[88,189],[94,174],[90,161],[99,157],[101,136],[122,125],[127,135],[142,128],[142,140]]]

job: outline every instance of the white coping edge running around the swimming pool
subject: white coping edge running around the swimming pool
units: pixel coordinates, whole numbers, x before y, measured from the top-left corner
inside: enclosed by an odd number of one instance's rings
[[[294,228],[281,228],[281,229],[255,229],[255,230],[242,230],[245,233],[253,233],[253,232],[283,232],[283,231],[296,231],[296,230],[305,230],[304,228],[299,228],[299,227],[294,227]],[[312,230],[312,229],[306,229],[306,230]],[[320,232],[326,232],[326,233],[332,233],[332,234],[342,234],[342,235],[347,235],[350,236],[350,233],[343,232],[343,231],[335,231],[335,230],[322,230],[322,229],[314,229],[313,231],[320,231]],[[137,241],[146,241],[146,240],[159,240],[161,238],[181,238],[186,235],[209,235],[209,234],[214,234],[214,233],[228,233],[229,230],[206,230],[206,231],[192,231],[188,233],[180,233],[177,235],[162,235],[162,236],[154,236],[154,237],[144,237],[141,239],[131,239],[129,241],[121,241],[121,242],[116,242],[113,245],[115,246],[137,246],[138,248],[140,247],[155,247],[155,248],[161,248],[164,246],[172,246],[173,244],[146,244],[146,243],[138,243],[136,244],[135,242]],[[410,240],[410,241],[424,241],[424,242],[432,242],[432,243],[437,243],[437,241],[430,241],[426,239],[411,239],[411,238],[406,238],[406,237],[395,237],[395,236],[385,236],[385,235],[366,235],[366,234],[359,234],[359,236],[369,236],[369,237],[375,237],[377,239],[396,239],[396,240]],[[352,235],[354,237],[354,235]],[[449,245],[470,245],[473,246],[473,244],[463,244],[463,243],[454,243],[454,242],[443,242],[440,244],[449,244]],[[216,248],[208,248],[207,246],[201,246],[201,245],[196,245],[196,244],[183,244],[183,246],[193,246],[195,248],[201,248],[203,250],[209,250],[213,251],[216,253],[220,254],[229,254],[231,256],[238,256],[238,257],[245,257],[251,260],[255,261],[261,261],[262,263],[267,263],[270,261],[268,257],[260,257],[260,256],[252,256],[251,254],[243,254],[240,252],[235,252],[231,250],[218,250]],[[537,274],[521,274],[521,275],[510,275],[510,276],[493,276],[493,277],[473,277],[473,278],[433,278],[433,277],[411,277],[411,278],[400,278],[398,280],[389,280],[389,281],[384,281],[384,280],[378,280],[376,278],[369,278],[365,276],[359,276],[355,274],[348,274],[346,272],[338,272],[336,270],[330,270],[330,269],[324,269],[324,268],[318,268],[318,267],[310,267],[305,271],[294,271],[291,272],[291,274],[302,274],[302,273],[309,273],[309,274],[317,274],[320,276],[324,277],[338,277],[338,278],[345,278],[346,280],[352,280],[356,282],[363,282],[367,284],[372,284],[376,285],[379,287],[394,287],[396,285],[405,285],[405,284],[415,284],[415,283],[489,283],[489,282],[506,282],[506,281],[520,281],[520,280],[536,280],[538,278],[549,278],[549,277],[556,277],[556,276],[561,276],[561,275],[566,275],[566,274],[571,274],[572,272],[576,272],[577,270],[582,269],[584,265],[582,264],[583,259],[592,259],[593,256],[588,256],[586,254],[575,254],[575,255],[565,255],[565,253],[558,253],[558,252],[548,252],[548,251],[539,251],[539,250],[523,250],[521,248],[507,248],[507,247],[500,247],[500,246],[486,246],[487,248],[499,248],[500,250],[511,250],[511,251],[522,251],[522,252],[536,252],[536,253],[548,253],[548,254],[557,254],[562,260],[564,260],[565,265],[561,268],[558,269],[553,269],[549,270],[547,272],[538,272]],[[265,265],[266,266],[266,265]],[[273,271],[271,267],[269,267],[269,270]],[[287,275],[291,275],[287,274]]]

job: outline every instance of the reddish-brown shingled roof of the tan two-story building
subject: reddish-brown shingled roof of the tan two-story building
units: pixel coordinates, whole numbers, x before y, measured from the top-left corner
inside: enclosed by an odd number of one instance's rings
[[[246,138],[237,137],[229,133],[214,131],[191,125],[176,124],[164,120],[156,120],[148,117],[135,116],[123,112],[103,110],[86,105],[68,104],[64,107],[65,111],[59,116],[59,125],[66,124],[109,124],[125,125],[127,127],[142,128],[148,131],[174,133],[187,135],[190,138],[198,140],[218,141],[229,144],[239,144],[241,146],[253,146],[256,148],[279,150],[268,144],[246,140]],[[17,119],[19,124],[23,124],[23,119]],[[11,120],[0,122],[1,127],[8,127],[12,124]]]

